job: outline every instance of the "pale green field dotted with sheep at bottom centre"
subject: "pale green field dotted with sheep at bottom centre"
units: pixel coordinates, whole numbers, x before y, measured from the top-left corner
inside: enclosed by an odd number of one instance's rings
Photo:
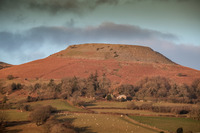
[[[156,133],[152,129],[125,121],[121,116],[82,113],[60,116],[59,119],[71,119],[76,127],[87,127],[87,133]]]

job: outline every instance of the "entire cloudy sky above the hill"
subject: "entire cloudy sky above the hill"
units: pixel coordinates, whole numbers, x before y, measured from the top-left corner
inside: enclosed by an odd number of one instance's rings
[[[200,70],[199,0],[0,0],[0,61],[22,64],[71,44],[149,46]]]

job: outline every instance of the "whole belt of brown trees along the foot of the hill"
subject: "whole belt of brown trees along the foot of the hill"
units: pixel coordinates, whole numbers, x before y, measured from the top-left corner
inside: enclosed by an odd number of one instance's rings
[[[90,74],[88,78],[64,78],[61,82],[51,79],[49,83],[38,82],[30,86],[12,83],[10,88],[11,92],[23,88],[29,90],[30,94],[36,93],[38,97],[28,97],[28,102],[43,99],[67,99],[71,97],[76,99],[79,96],[93,97],[95,99],[115,99],[111,97],[111,94],[126,95],[127,99],[125,100],[132,100],[133,98],[179,103],[200,102],[200,79],[196,79],[191,85],[178,85],[165,77],[147,77],[135,85],[121,84],[114,90],[110,90],[110,87],[111,82],[106,75],[99,76],[96,72]],[[3,90],[1,89],[1,91]]]

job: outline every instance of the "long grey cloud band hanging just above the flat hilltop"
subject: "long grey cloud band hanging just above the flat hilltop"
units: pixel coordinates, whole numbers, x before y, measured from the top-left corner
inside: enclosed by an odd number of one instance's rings
[[[24,45],[37,46],[44,42],[54,45],[64,45],[79,42],[109,42],[111,40],[142,40],[142,39],[177,39],[173,34],[142,29],[133,25],[122,25],[111,22],[102,23],[97,27],[35,27],[23,33],[0,32],[0,46],[2,49],[15,49]],[[12,46],[12,47],[11,47]]]

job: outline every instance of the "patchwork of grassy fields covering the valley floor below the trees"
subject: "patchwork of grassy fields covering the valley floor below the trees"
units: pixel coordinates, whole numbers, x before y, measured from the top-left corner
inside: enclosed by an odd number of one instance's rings
[[[60,110],[54,114],[59,121],[70,121],[81,133],[158,133],[200,131],[200,121],[175,114],[125,109],[128,102],[96,101],[85,108],[75,107],[66,100],[45,100],[27,103],[31,106],[51,105]],[[140,103],[137,103],[140,104]],[[108,108],[109,107],[109,108]],[[101,109],[100,109],[101,108]],[[118,109],[117,109],[118,108]],[[29,121],[30,112],[5,110],[8,133],[43,133],[42,126]],[[135,114],[135,115],[134,115]],[[170,117],[169,117],[170,116]],[[173,116],[173,117],[172,117]]]

